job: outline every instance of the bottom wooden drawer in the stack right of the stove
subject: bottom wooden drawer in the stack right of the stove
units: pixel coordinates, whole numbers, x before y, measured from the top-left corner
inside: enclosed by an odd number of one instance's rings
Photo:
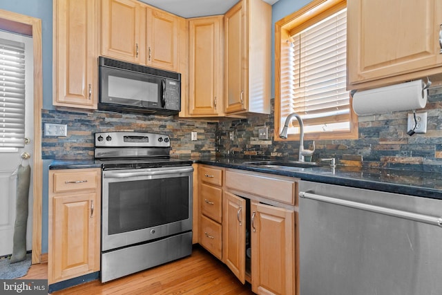
[[[222,227],[219,223],[201,216],[200,244],[218,259],[222,259]]]

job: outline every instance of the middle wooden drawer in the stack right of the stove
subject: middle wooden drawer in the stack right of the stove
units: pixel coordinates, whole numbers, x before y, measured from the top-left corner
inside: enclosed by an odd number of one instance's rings
[[[207,184],[200,184],[201,213],[221,223],[222,189]]]

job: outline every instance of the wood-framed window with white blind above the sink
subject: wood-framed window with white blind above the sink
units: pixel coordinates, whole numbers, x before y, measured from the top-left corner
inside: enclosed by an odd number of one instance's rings
[[[346,91],[346,32],[343,0],[313,1],[276,23],[276,132],[290,113],[297,113],[307,139],[357,136]],[[289,124],[289,139],[298,140],[298,126],[297,120]]]

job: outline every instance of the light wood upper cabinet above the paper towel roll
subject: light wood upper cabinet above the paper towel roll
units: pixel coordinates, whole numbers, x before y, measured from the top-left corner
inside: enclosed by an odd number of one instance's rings
[[[347,88],[441,72],[442,1],[347,1]]]

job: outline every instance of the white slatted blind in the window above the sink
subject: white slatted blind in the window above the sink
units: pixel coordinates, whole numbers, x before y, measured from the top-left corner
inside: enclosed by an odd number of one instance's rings
[[[306,132],[348,130],[347,9],[296,33],[290,41],[289,87],[282,92],[281,126],[295,112]]]

